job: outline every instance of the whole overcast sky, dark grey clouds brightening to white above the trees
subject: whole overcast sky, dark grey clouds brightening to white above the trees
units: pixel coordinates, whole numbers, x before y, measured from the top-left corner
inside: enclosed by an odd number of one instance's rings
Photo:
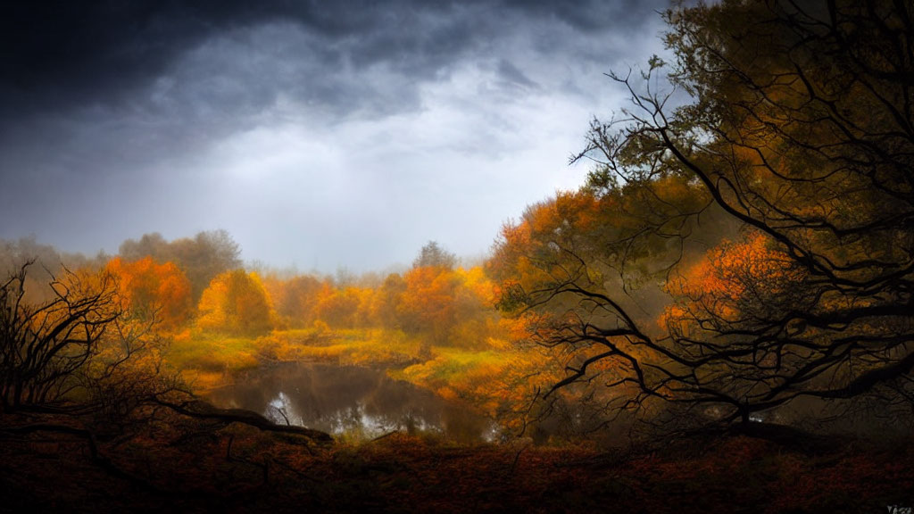
[[[666,1],[51,4],[0,16],[0,238],[225,229],[248,261],[362,272],[484,254],[578,187],[626,100],[603,73],[661,53]]]

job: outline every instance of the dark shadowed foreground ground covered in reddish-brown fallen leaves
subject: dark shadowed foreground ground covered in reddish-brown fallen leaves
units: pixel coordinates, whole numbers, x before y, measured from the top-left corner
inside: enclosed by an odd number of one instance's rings
[[[0,426],[2,512],[881,512],[914,506],[914,442],[717,435],[654,453],[316,444],[170,419],[91,438]],[[19,424],[16,424],[19,423]]]

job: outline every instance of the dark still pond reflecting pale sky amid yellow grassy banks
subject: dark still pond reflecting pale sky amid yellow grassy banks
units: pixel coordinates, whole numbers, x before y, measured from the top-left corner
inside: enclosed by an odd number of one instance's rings
[[[275,423],[354,439],[400,431],[475,442],[492,441],[498,434],[495,423],[470,407],[392,380],[381,369],[282,365],[250,371],[207,397],[219,407],[260,412]]]

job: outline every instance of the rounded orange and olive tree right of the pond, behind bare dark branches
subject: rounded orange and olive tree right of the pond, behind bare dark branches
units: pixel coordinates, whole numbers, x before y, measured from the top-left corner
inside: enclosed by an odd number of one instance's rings
[[[643,198],[664,203],[645,208]],[[653,366],[668,360],[667,350],[643,324],[660,312],[656,281],[682,256],[683,240],[668,233],[703,209],[707,198],[670,175],[601,193],[559,193],[505,225],[487,267],[502,283],[503,312],[566,370],[544,373],[555,380],[544,393],[549,402],[571,392],[625,411],[657,395],[654,380],[662,378]]]

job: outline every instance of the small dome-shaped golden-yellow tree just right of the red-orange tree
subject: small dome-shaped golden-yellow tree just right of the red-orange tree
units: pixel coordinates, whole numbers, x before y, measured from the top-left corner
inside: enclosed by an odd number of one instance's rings
[[[234,270],[219,274],[197,306],[197,326],[209,332],[259,336],[273,327],[270,297],[256,273]]]

